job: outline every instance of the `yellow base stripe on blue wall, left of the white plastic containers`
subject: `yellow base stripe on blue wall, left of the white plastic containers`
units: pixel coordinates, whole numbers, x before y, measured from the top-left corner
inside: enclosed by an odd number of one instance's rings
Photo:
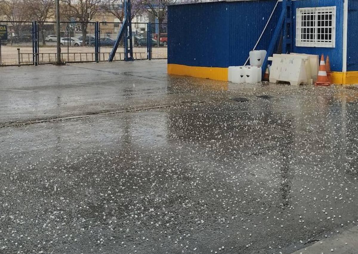
[[[227,81],[228,68],[187,66],[168,63],[168,74]]]

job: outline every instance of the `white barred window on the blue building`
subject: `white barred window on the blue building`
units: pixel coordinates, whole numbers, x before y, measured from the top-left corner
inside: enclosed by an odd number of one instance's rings
[[[335,47],[336,7],[296,9],[296,46]]]

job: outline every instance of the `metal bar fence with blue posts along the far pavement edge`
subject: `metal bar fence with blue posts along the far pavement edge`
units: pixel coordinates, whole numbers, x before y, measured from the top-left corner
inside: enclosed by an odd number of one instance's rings
[[[0,42],[0,66],[46,64],[56,62],[55,22],[0,21],[8,26],[8,39]],[[61,22],[61,59],[63,62],[108,61],[122,23]],[[150,28],[150,29],[149,29]],[[133,58],[167,58],[167,24],[132,23]],[[159,32],[159,33],[158,33]],[[151,43],[148,45],[148,37]],[[95,42],[98,40],[98,52]],[[121,41],[113,61],[124,60]]]

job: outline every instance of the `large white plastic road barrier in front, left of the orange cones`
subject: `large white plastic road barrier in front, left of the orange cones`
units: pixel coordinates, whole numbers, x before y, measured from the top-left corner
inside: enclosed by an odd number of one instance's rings
[[[290,54],[274,54],[269,57],[272,61],[270,67],[270,82],[277,81],[290,82],[291,85],[300,85],[301,83],[311,83],[308,57],[298,57]]]

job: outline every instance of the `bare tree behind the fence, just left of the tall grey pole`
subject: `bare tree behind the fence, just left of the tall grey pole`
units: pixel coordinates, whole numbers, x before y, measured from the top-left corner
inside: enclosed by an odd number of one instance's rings
[[[45,44],[44,21],[54,15],[54,0],[24,0],[25,6],[32,20],[39,21],[42,44]]]

